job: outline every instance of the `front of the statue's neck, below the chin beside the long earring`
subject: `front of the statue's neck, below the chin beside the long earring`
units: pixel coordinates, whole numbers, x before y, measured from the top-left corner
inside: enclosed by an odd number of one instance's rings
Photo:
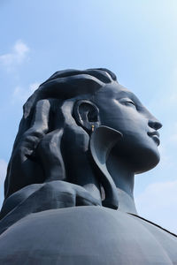
[[[121,161],[112,152],[107,160],[107,169],[117,187],[119,209],[128,213],[137,214],[134,201],[135,174],[128,165]]]

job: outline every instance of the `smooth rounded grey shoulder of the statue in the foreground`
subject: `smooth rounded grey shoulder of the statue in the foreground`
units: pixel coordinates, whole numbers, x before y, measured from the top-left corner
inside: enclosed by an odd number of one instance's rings
[[[50,263],[59,259],[61,263],[57,264],[62,265],[117,265],[118,261],[122,265],[131,264],[130,261],[172,264],[163,246],[138,218],[99,206],[31,214],[1,235],[0,253],[1,259],[4,255],[17,256],[17,264],[25,263],[25,258],[31,263],[36,259],[49,264],[42,261],[46,254]]]

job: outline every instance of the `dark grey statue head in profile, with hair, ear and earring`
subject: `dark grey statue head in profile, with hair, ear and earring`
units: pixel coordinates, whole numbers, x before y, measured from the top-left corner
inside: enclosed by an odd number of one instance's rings
[[[152,169],[159,162],[161,126],[111,71],[56,72],[24,105],[5,198],[51,180],[112,190],[112,178],[102,170],[110,152],[134,173]]]

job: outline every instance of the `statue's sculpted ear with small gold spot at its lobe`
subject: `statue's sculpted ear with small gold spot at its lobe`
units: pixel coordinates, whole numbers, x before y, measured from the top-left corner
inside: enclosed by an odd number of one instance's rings
[[[73,106],[73,117],[78,125],[87,132],[94,131],[100,125],[99,110],[96,104],[88,100],[79,100]]]

